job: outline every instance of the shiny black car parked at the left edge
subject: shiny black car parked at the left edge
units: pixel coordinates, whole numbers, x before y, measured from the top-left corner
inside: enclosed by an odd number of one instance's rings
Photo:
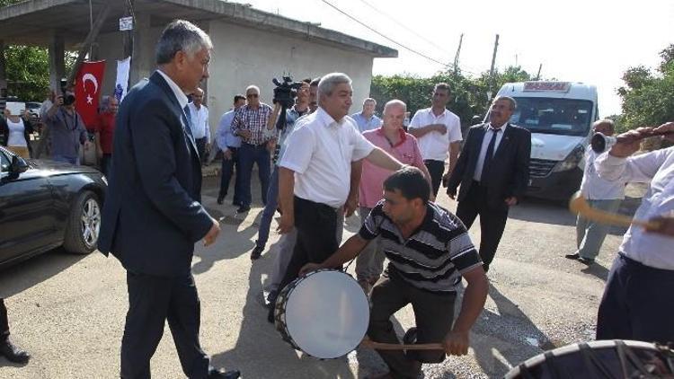
[[[93,168],[26,161],[0,147],[0,267],[58,246],[95,250],[106,189]]]

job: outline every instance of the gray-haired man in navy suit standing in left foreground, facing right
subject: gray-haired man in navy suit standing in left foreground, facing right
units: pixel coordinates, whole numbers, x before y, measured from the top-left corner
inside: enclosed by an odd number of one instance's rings
[[[200,300],[191,274],[194,243],[220,227],[200,204],[201,164],[187,94],[208,78],[208,35],[171,22],[156,47],[158,70],[137,84],[117,116],[99,250],[127,269],[129,312],[121,377],[149,378],[150,358],[168,321],[190,378],[237,378],[210,366],[200,347]]]

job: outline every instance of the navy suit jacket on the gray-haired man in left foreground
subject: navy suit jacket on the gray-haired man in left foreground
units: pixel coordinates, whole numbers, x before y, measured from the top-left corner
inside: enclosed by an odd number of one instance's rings
[[[201,164],[186,123],[156,72],[120,104],[98,246],[131,272],[189,274],[194,243],[213,225],[200,204]]]

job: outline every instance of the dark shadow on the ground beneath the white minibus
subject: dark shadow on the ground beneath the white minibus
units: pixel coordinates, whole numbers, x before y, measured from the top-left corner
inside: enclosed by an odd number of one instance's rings
[[[510,218],[540,224],[576,225],[565,202],[552,202],[540,198],[525,198],[518,206],[511,207]]]

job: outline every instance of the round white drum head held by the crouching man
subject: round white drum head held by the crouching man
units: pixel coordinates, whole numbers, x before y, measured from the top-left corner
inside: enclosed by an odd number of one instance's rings
[[[343,357],[368,331],[368,297],[341,271],[316,272],[301,279],[289,294],[285,318],[289,336],[306,354]]]

